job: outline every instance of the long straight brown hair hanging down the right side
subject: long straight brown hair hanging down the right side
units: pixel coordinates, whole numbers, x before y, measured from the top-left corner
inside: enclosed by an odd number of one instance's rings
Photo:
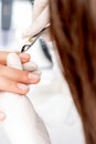
[[[96,21],[93,0],[50,0],[52,33],[86,144],[96,144]]]

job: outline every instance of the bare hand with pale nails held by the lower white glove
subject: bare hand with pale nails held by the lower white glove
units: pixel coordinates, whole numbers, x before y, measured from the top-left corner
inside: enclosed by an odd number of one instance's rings
[[[35,72],[38,70],[34,63],[31,63],[33,72],[22,71],[7,66],[7,55],[9,52],[0,51],[0,91],[7,91],[18,94],[26,94],[29,88],[26,84],[35,84],[40,81],[40,74]],[[19,54],[21,62],[26,63],[30,61],[30,55],[26,53]],[[24,68],[25,64],[23,64]],[[28,69],[28,68],[26,68]],[[3,112],[0,112],[0,121],[4,119]]]

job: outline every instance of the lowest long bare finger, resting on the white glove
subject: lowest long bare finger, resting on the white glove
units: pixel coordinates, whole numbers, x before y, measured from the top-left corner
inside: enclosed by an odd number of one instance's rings
[[[29,92],[28,85],[9,80],[4,76],[0,76],[0,90],[18,94],[26,94]]]

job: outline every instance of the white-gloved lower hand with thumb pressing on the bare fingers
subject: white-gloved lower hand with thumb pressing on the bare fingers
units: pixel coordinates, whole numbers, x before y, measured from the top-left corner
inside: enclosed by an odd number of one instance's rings
[[[15,53],[8,55],[8,65],[22,69]],[[12,144],[51,144],[45,125],[29,97],[0,92],[0,110],[7,114],[1,124]]]

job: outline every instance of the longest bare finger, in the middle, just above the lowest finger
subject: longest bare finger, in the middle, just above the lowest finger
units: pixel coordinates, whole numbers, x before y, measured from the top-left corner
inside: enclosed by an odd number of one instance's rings
[[[35,84],[40,81],[40,75],[32,72],[0,65],[0,76],[25,84]]]

